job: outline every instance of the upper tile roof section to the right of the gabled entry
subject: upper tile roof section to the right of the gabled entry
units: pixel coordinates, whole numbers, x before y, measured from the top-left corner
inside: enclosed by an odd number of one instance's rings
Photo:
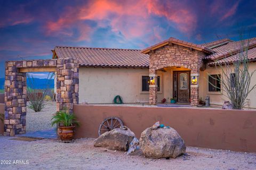
[[[246,39],[243,41],[234,41],[226,45],[214,48],[213,50],[216,53],[206,56],[205,58],[208,60],[220,60],[221,58],[228,57],[231,54],[236,54],[239,52],[239,50],[241,50],[242,42],[246,47],[249,45],[249,48],[256,46],[256,38]]]

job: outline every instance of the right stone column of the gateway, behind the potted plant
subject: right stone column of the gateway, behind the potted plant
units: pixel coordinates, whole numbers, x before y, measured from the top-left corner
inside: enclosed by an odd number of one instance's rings
[[[73,104],[78,104],[78,61],[57,61],[57,111],[73,113]]]

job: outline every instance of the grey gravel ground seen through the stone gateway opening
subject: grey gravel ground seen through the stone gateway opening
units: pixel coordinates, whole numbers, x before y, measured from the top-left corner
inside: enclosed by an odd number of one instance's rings
[[[29,103],[27,103],[27,106]],[[56,112],[56,103],[49,101],[43,111],[35,112],[33,109],[27,108],[26,131],[39,131],[52,129],[51,118]]]

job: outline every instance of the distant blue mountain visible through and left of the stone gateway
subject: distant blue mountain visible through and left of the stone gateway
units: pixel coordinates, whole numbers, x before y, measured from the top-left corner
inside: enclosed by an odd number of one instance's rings
[[[4,78],[0,78],[0,89],[4,89],[4,81],[5,81]],[[47,83],[49,83],[49,85],[47,85]],[[34,78],[33,84],[35,89],[46,89],[46,88],[53,89],[54,79],[48,80],[48,79]],[[27,86],[30,87],[30,83],[28,82],[28,79],[27,79]]]

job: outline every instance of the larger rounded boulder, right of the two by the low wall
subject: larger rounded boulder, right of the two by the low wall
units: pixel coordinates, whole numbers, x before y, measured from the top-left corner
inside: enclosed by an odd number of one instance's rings
[[[147,128],[141,133],[140,147],[150,158],[176,158],[186,152],[183,139],[173,128]]]

